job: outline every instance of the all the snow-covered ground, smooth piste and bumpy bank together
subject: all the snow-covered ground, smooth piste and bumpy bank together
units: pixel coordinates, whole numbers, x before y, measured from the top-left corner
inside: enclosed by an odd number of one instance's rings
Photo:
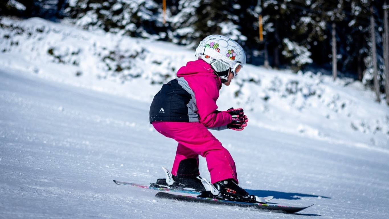
[[[0,24],[0,218],[301,217],[159,200],[112,182],[148,184],[171,168],[176,143],[148,110],[193,50],[38,18]],[[384,219],[389,110],[374,99],[351,79],[246,65],[218,106],[244,108],[249,125],[212,133],[251,194],[315,204],[301,214],[322,219]],[[209,178],[203,158],[200,171]]]

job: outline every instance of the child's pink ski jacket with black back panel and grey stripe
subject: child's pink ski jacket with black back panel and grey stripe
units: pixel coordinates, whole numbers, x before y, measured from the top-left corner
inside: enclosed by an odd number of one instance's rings
[[[226,129],[232,117],[218,111],[221,80],[204,60],[187,62],[176,79],[162,86],[150,107],[150,123],[154,121],[200,122],[205,127]]]

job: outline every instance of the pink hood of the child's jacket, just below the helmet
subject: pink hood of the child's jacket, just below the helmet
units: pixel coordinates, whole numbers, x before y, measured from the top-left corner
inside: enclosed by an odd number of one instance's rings
[[[187,62],[177,71],[177,77],[192,77],[192,76],[210,76],[215,78],[219,89],[221,88],[221,79],[214,73],[211,65],[202,59]]]

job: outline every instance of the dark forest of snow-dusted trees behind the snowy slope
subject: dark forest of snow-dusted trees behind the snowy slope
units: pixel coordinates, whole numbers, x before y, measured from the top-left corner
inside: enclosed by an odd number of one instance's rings
[[[249,64],[349,77],[371,88],[377,102],[386,99],[389,104],[387,4],[387,0],[2,0],[0,14],[40,17],[189,48],[196,48],[207,35],[223,34],[244,47]]]

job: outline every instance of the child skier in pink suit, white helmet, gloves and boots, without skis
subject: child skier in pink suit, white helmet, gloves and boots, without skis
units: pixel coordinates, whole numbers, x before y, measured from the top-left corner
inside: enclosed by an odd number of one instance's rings
[[[218,111],[216,100],[222,84],[237,76],[246,56],[242,47],[223,35],[205,37],[196,49],[198,60],[188,62],[162,86],[150,107],[150,123],[164,136],[178,142],[172,168],[173,187],[203,191],[198,155],[205,157],[211,183],[224,197],[248,198],[238,185],[235,162],[210,129],[242,131],[247,126],[243,109]],[[158,179],[157,184],[164,184]]]

